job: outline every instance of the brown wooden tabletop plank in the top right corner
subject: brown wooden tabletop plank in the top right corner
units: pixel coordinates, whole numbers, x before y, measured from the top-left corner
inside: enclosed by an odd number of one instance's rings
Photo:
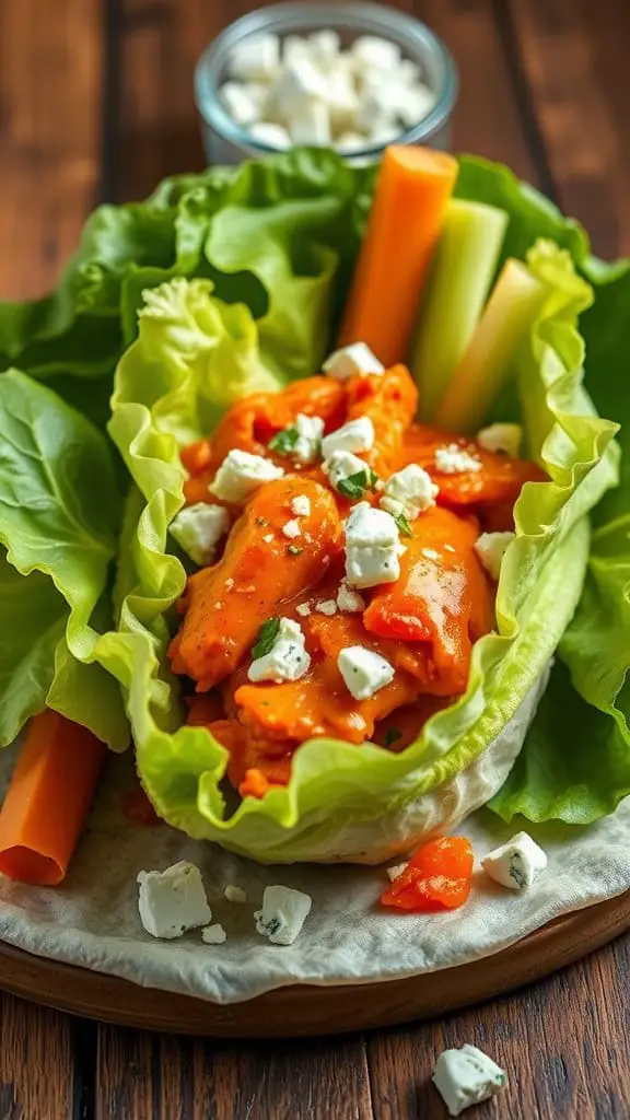
[[[562,208],[603,256],[630,253],[630,4],[511,0]]]

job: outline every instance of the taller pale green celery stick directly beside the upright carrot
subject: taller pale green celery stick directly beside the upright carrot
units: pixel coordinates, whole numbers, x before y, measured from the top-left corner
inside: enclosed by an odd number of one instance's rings
[[[485,304],[506,228],[506,211],[460,199],[448,204],[423,299],[411,370],[420,414],[430,420]]]

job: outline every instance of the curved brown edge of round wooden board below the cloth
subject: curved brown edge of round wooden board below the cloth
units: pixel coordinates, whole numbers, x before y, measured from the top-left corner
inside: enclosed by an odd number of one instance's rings
[[[457,968],[368,984],[291,986],[229,1006],[139,988],[0,945],[0,988],[75,1015],[169,1034],[331,1035],[429,1018],[502,995],[572,964],[628,928],[630,892],[556,918],[511,948]]]

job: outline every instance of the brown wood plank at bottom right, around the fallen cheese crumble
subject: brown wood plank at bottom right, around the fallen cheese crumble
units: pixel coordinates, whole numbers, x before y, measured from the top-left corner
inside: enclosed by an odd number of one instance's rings
[[[501,1117],[627,1120],[630,1114],[628,939],[507,998],[368,1044],[376,1120],[438,1116],[437,1054],[473,1043],[508,1072]],[[435,1110],[435,1111],[432,1111]]]

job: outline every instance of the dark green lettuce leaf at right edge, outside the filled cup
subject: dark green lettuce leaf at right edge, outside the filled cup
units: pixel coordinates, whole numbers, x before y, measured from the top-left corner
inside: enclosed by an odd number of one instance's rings
[[[593,511],[584,591],[525,748],[491,808],[504,820],[589,824],[630,793],[630,267],[583,262],[586,383],[622,421],[621,485]]]

